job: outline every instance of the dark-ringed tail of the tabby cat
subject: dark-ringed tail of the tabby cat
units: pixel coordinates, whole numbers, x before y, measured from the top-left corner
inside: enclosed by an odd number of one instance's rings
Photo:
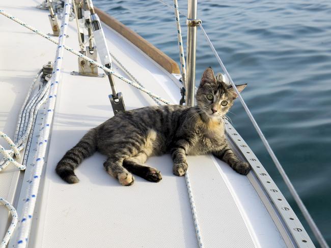
[[[56,172],[68,183],[79,182],[74,169],[86,158],[90,157],[97,148],[97,131],[91,129],[79,142],[66,152],[57,165]]]

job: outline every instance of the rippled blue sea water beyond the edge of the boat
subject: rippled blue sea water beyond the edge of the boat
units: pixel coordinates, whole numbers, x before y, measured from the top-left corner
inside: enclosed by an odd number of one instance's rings
[[[179,63],[172,9],[157,0],[94,3]],[[179,0],[179,9],[187,13],[186,1]],[[331,2],[204,0],[198,17],[233,80],[248,83],[245,102],[331,245]],[[183,15],[181,24],[186,44]],[[220,72],[198,30],[197,82],[208,66]],[[298,213],[239,102],[231,112],[233,125]]]

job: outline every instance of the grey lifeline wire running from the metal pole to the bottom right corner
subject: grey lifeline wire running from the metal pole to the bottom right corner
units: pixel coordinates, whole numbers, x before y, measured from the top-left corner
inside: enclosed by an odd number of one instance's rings
[[[267,149],[267,151],[268,151],[268,153],[269,153],[269,155],[270,155],[270,157],[271,157],[273,163],[275,164],[275,166],[277,167],[277,169],[278,169],[278,171],[280,172],[281,176],[283,177],[283,180],[285,181],[285,183],[286,183],[288,189],[290,190],[290,193],[292,194],[292,196],[293,196],[293,198],[294,198],[296,204],[297,204],[298,207],[300,208],[302,214],[304,214],[305,219],[306,219],[306,221],[308,222],[310,228],[312,229],[312,231],[313,231],[315,237],[317,238],[319,244],[320,244],[322,247],[327,248],[328,245],[327,245],[325,239],[323,238],[321,232],[319,231],[318,227],[316,226],[316,224],[315,224],[314,220],[312,219],[312,216],[311,216],[310,213],[308,212],[308,210],[307,210],[305,204],[301,201],[301,199],[300,199],[298,193],[297,193],[296,190],[294,189],[293,184],[291,183],[290,179],[288,178],[288,176],[287,176],[286,172],[284,171],[284,169],[283,169],[281,163],[278,161],[277,157],[275,156],[275,154],[274,154],[273,150],[271,149],[271,147],[270,147],[268,141],[267,141],[266,138],[264,137],[264,134],[262,133],[262,131],[261,131],[261,129],[260,129],[258,123],[256,122],[255,118],[253,117],[253,115],[252,115],[250,109],[247,107],[245,101],[242,99],[242,97],[241,97],[241,95],[240,95],[240,93],[239,93],[239,91],[238,91],[236,85],[235,85],[234,82],[232,81],[232,78],[231,78],[230,74],[228,73],[227,69],[225,68],[225,66],[224,66],[224,64],[223,64],[223,62],[222,62],[222,60],[221,60],[220,57],[218,56],[218,54],[217,54],[217,52],[216,52],[216,50],[215,50],[213,44],[211,43],[211,41],[210,41],[208,35],[206,34],[205,29],[203,28],[203,26],[202,26],[201,23],[200,23],[199,26],[200,26],[200,28],[201,28],[201,30],[202,30],[204,36],[206,37],[206,40],[207,40],[207,42],[208,42],[208,44],[209,44],[211,50],[213,51],[215,57],[217,58],[220,67],[223,69],[223,71],[225,72],[225,74],[228,76],[228,78],[229,78],[229,80],[230,80],[230,83],[231,83],[232,87],[235,89],[235,91],[236,91],[236,93],[237,93],[237,95],[238,95],[238,98],[239,98],[239,100],[240,100],[240,103],[241,103],[242,107],[244,108],[244,110],[246,111],[247,115],[249,116],[251,122],[253,123],[253,126],[254,126],[256,132],[259,134],[259,136],[260,136],[260,138],[261,138],[261,140],[262,140],[262,142],[263,142],[265,148]]]

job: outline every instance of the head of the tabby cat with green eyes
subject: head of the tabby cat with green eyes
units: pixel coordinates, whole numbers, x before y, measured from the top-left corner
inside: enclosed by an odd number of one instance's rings
[[[247,84],[236,85],[241,92]],[[209,118],[224,116],[237,98],[234,88],[225,82],[217,81],[213,70],[209,67],[202,75],[197,91],[197,104]]]

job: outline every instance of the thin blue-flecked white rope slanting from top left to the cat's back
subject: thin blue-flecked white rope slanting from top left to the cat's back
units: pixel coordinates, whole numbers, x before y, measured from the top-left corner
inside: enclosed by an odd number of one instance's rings
[[[15,21],[15,22],[21,24],[22,26],[24,26],[24,27],[26,27],[26,28],[32,30],[33,32],[35,32],[36,34],[38,34],[38,35],[40,35],[40,36],[46,38],[47,40],[49,40],[49,41],[51,41],[51,42],[53,42],[53,43],[55,43],[55,44],[59,44],[58,41],[52,39],[50,36],[48,36],[48,35],[46,35],[45,33],[39,31],[39,30],[36,29],[35,27],[32,27],[32,26],[30,26],[29,24],[27,24],[27,23],[25,23],[25,22],[23,22],[23,21],[17,19],[16,17],[10,15],[9,13],[5,12],[5,11],[2,10],[2,9],[0,9],[0,14],[6,16],[6,17],[8,17],[9,19],[11,19],[11,20],[13,20],[13,21]],[[94,61],[93,59],[91,59],[91,58],[89,58],[89,57],[87,57],[87,56],[81,54],[80,52],[77,52],[77,51],[75,51],[74,49],[72,49],[72,48],[70,48],[70,47],[68,47],[68,46],[66,46],[66,45],[63,45],[63,48],[66,49],[66,50],[68,50],[69,52],[71,52],[71,53],[73,53],[73,54],[75,54],[75,55],[77,55],[77,56],[79,56],[79,57],[81,57],[81,58],[83,58],[83,59],[89,61],[91,64],[93,64],[93,65],[97,66],[98,68],[100,68],[100,69],[102,69],[102,70],[104,70],[104,71],[106,71],[106,72],[108,72],[108,73],[114,75],[115,77],[117,77],[117,78],[123,80],[124,82],[126,82],[126,83],[132,85],[133,87],[135,87],[135,88],[137,88],[137,89],[140,89],[141,91],[143,91],[143,92],[145,92],[146,94],[148,94],[149,96],[151,96],[151,97],[157,99],[158,101],[161,101],[161,102],[163,102],[163,103],[165,103],[165,104],[170,104],[170,102],[167,101],[166,99],[163,99],[163,98],[161,98],[161,97],[159,97],[159,96],[153,94],[153,93],[152,93],[151,91],[149,91],[148,89],[142,87],[141,85],[139,85],[139,84],[137,84],[137,83],[132,82],[131,80],[128,80],[127,78],[123,77],[122,75],[120,75],[120,74],[118,74],[118,73],[116,73],[116,72],[114,72],[114,71],[112,71],[112,70],[106,68],[105,66],[103,66],[103,65],[101,65],[101,64],[99,64],[99,63],[97,63],[97,62]]]

